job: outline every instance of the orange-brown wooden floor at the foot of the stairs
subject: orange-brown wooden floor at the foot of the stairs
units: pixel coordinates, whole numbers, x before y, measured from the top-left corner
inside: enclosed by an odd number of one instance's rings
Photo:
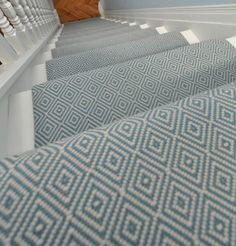
[[[62,23],[99,16],[99,0],[54,0]]]

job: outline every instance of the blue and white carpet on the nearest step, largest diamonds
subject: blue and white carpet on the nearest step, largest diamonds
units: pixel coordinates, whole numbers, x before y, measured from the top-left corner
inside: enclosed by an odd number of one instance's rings
[[[236,84],[0,164],[0,245],[236,245]]]

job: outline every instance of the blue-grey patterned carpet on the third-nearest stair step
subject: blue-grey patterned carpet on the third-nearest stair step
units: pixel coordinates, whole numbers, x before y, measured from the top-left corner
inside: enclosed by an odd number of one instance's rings
[[[188,45],[186,39],[179,32],[173,32],[85,51],[47,61],[47,78],[57,79],[184,45]]]

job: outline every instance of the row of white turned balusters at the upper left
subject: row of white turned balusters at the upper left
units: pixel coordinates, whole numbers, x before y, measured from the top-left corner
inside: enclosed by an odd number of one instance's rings
[[[59,25],[48,1],[0,0],[0,62],[12,62]]]

